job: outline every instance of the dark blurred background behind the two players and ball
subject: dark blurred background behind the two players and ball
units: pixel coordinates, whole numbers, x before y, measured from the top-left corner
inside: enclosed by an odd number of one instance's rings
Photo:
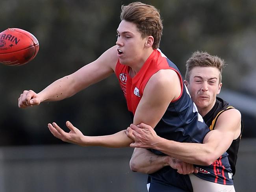
[[[64,142],[47,128],[57,122],[68,131],[65,121],[70,120],[84,135],[126,129],[131,119],[115,75],[63,101],[18,108],[23,90],[39,92],[113,46],[121,5],[130,2],[0,0],[0,31],[21,28],[40,44],[30,63],[0,65],[0,192],[146,191],[145,175],[129,170],[132,149],[61,145]],[[182,74],[196,50],[226,60],[220,95],[241,111],[245,123],[236,187],[254,191],[256,166],[249,165],[254,165],[256,155],[256,1],[141,2],[160,10],[160,49]]]

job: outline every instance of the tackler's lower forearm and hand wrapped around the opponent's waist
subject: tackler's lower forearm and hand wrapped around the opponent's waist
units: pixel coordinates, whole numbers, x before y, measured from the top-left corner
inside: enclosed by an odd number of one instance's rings
[[[130,168],[134,172],[152,174],[164,166],[171,166],[173,169],[176,169],[179,174],[184,175],[198,172],[193,164],[182,162],[167,155],[155,155],[151,151],[143,148],[135,148],[132,158],[130,159]]]

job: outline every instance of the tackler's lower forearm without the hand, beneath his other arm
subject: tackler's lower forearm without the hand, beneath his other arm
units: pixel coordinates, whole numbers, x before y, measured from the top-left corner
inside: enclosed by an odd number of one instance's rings
[[[168,165],[168,157],[155,155],[146,149],[135,148],[130,160],[130,168],[134,172],[152,174]]]

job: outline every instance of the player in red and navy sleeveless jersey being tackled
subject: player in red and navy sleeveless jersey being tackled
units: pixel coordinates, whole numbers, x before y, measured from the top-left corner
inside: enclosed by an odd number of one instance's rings
[[[58,79],[39,93],[25,90],[20,95],[19,107],[62,100],[115,73],[126,98],[128,111],[134,116],[134,124],[148,124],[166,139],[202,143],[209,132],[208,127],[186,91],[178,68],[158,49],[162,29],[160,13],[154,6],[140,2],[122,6],[115,46],[92,63]],[[70,129],[69,133],[55,122],[48,124],[48,128],[55,137],[81,146],[117,148],[127,147],[133,142],[125,130],[113,135],[88,137],[69,121],[66,125]],[[161,151],[152,151],[163,154]],[[227,153],[222,155],[221,163],[223,167],[219,170],[223,175],[219,175],[218,185],[226,189],[227,186],[233,186],[232,179],[226,179],[231,173]],[[212,166],[199,167],[206,171],[212,170]],[[208,175],[206,178],[197,174],[200,179],[215,178],[214,174]],[[178,174],[171,167],[163,168],[157,174],[150,175],[150,178],[151,192],[193,190],[189,177]],[[226,185],[222,184],[224,181]]]

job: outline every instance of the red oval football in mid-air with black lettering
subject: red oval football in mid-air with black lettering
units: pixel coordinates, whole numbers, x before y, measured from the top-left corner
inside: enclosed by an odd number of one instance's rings
[[[0,62],[23,65],[31,61],[39,50],[39,42],[30,32],[8,28],[0,33]]]

